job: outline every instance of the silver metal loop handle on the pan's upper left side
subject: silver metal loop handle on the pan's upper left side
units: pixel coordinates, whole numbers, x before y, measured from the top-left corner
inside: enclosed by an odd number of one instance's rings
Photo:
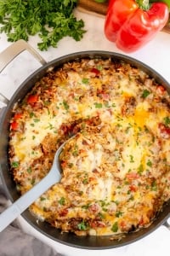
[[[15,42],[14,44],[11,44],[8,46],[7,49],[3,50],[2,53],[0,53],[0,73],[3,71],[5,67],[7,67],[8,63],[14,60],[14,58],[17,55],[20,55],[21,52],[24,50],[27,50],[33,55],[37,61],[39,61],[42,66],[47,64],[47,61],[45,61],[41,55],[37,53],[35,49],[31,47],[30,44],[27,44],[26,41],[23,39],[20,39],[19,41]],[[0,102],[3,102],[4,104],[8,104],[8,99],[3,96],[3,94],[0,93]]]

